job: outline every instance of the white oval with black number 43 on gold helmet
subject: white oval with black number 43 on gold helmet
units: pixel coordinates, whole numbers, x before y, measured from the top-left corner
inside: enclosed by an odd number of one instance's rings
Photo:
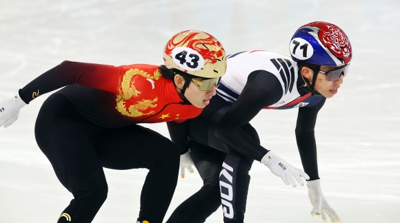
[[[177,47],[172,50],[172,59],[184,70],[200,70],[204,66],[203,56],[188,47]]]

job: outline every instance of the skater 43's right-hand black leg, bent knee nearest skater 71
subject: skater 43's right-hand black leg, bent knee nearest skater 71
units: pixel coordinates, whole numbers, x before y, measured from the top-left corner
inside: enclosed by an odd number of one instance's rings
[[[103,131],[95,148],[103,167],[149,169],[138,221],[161,223],[177,186],[179,149],[168,138],[140,125]]]

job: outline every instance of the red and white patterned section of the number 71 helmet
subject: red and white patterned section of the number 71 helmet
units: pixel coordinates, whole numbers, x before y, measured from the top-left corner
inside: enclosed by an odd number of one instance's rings
[[[352,47],[348,36],[331,23],[312,22],[304,26],[314,26],[319,28],[318,37],[321,43],[327,47],[334,56],[341,59],[344,63],[349,63],[352,58]]]

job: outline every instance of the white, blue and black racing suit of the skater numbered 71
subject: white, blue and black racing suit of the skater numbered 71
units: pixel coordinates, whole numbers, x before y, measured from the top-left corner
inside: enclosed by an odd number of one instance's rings
[[[314,126],[325,100],[310,94],[297,63],[288,56],[263,50],[228,56],[217,96],[203,113],[187,125],[168,124],[172,141],[190,147],[204,184],[167,223],[205,222],[221,204],[224,222],[243,222],[248,171],[269,151],[249,123],[261,109],[299,109],[295,134],[301,162],[310,180],[319,179]]]

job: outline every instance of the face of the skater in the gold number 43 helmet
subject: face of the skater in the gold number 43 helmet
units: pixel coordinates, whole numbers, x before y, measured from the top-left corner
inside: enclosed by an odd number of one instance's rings
[[[176,75],[179,76],[179,75]],[[177,79],[177,78],[175,78]],[[186,79],[185,78],[179,78],[178,81],[175,80],[175,85],[177,85],[177,91],[180,92],[181,89],[183,88],[183,84],[185,83]],[[193,78],[194,81],[202,81],[201,78]],[[185,97],[186,99],[189,100],[192,105],[195,107],[203,108],[206,107],[208,104],[210,104],[210,99],[212,96],[217,94],[217,90],[215,89],[215,86],[212,86],[210,91],[206,92],[200,89],[199,85],[193,83],[193,81],[190,81],[189,86],[186,88],[185,91]]]

